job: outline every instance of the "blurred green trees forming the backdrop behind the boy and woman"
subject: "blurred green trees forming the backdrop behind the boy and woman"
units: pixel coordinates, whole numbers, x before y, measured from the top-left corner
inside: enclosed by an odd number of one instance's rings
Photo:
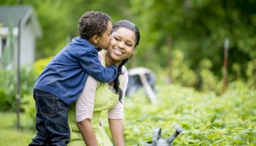
[[[128,19],[139,26],[142,35],[137,50],[139,66],[166,67],[170,53],[181,49],[189,67],[197,72],[199,62],[208,59],[220,79],[225,38],[230,40],[231,74],[238,74],[232,69],[235,62],[240,67],[240,76],[247,77],[247,62],[256,59],[256,1],[253,0],[2,0],[0,4],[35,7],[44,32],[38,41],[37,58],[61,50],[67,36],[78,35],[77,23],[82,13],[94,10],[109,13],[113,22]]]

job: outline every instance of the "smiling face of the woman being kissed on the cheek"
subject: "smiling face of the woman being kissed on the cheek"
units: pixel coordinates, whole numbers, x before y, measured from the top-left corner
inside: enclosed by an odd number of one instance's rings
[[[110,58],[119,62],[132,55],[135,45],[135,33],[127,28],[118,28],[112,33],[107,54]]]

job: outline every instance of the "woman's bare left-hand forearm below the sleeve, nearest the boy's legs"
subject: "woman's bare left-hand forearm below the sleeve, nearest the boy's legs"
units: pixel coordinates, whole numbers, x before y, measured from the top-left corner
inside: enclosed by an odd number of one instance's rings
[[[78,122],[78,128],[82,135],[82,139],[85,141],[85,145],[97,146],[97,140],[92,125],[90,125],[90,119],[86,118],[85,120]]]

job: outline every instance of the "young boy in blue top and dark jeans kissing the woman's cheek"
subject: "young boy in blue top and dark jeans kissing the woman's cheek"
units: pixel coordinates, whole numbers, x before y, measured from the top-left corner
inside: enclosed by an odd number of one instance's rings
[[[68,109],[80,96],[88,74],[99,82],[112,82],[117,77],[117,67],[102,67],[96,50],[107,49],[111,30],[106,13],[85,13],[78,24],[80,37],[58,52],[40,74],[33,91],[38,132],[30,145],[67,145]]]

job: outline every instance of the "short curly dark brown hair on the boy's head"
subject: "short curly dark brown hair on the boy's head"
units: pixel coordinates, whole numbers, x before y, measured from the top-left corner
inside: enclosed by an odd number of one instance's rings
[[[78,33],[81,38],[89,40],[94,35],[101,36],[107,30],[107,24],[111,17],[100,11],[88,11],[84,13],[78,23]]]

